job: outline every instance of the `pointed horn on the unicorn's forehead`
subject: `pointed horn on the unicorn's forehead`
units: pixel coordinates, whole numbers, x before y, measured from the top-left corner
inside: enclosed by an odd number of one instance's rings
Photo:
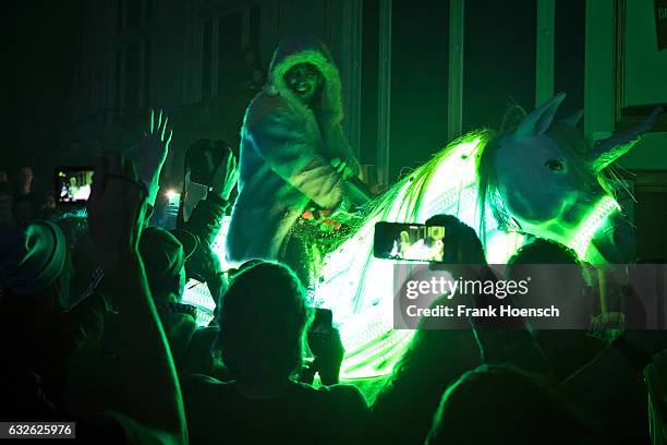
[[[593,151],[589,155],[589,165],[595,175],[608,167],[616,159],[630,152],[641,139],[642,134],[651,130],[664,107],[658,105],[651,111],[651,115],[640,124],[611,136],[597,141]]]

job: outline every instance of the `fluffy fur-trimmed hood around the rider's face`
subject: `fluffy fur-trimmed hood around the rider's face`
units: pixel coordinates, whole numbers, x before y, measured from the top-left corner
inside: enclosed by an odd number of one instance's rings
[[[343,117],[340,74],[329,49],[316,37],[295,36],[280,41],[269,67],[265,92],[271,96],[282,96],[293,105],[305,107],[284,82],[284,74],[299,63],[311,63],[322,73],[324,85],[319,95],[318,112],[340,122]]]

